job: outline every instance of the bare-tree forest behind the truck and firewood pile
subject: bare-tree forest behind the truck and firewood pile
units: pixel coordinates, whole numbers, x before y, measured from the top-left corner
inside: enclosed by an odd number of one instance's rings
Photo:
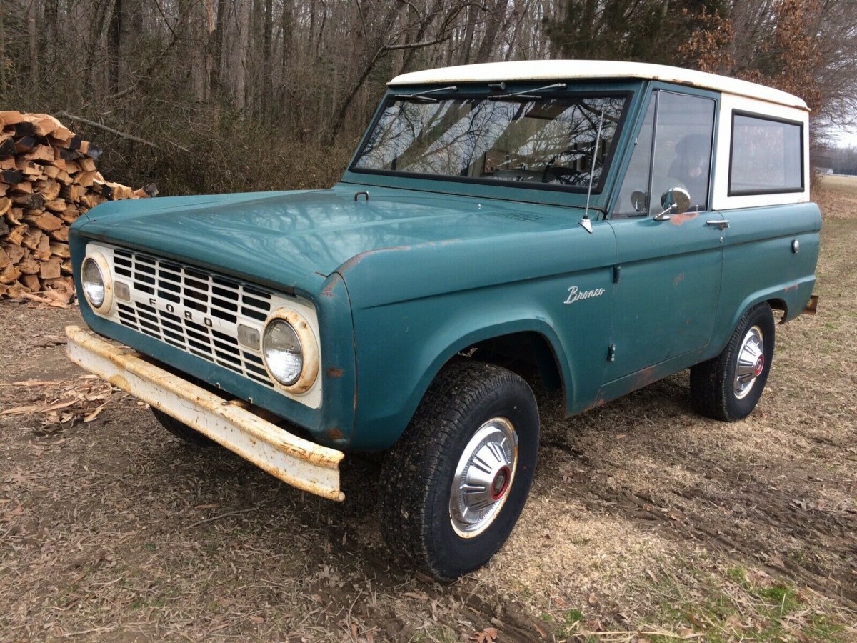
[[[822,155],[857,113],[857,0],[0,0],[0,109],[162,195],[327,187],[394,75],[546,58],[778,87]]]

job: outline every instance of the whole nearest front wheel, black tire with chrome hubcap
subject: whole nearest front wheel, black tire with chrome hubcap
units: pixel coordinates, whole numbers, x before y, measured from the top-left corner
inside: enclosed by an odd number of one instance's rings
[[[536,399],[521,377],[447,365],[381,467],[381,531],[393,553],[438,580],[482,567],[524,508],[538,438]]]

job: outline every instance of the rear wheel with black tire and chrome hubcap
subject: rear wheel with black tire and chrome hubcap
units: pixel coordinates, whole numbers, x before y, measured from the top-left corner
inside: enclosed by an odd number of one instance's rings
[[[691,369],[691,397],[709,418],[746,418],[762,396],[774,358],[774,315],[759,303],[741,316],[728,344],[716,358]]]

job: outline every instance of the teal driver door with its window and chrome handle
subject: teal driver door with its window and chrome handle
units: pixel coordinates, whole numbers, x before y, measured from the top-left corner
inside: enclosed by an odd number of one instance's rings
[[[720,297],[722,219],[710,212],[716,94],[655,90],[609,220],[617,249],[615,313],[605,382],[632,376],[709,341]],[[688,141],[691,141],[690,143]],[[693,147],[693,154],[686,148]],[[682,157],[704,155],[703,176],[682,181]],[[691,177],[692,173],[685,176]],[[694,183],[693,186],[688,183]],[[692,207],[662,213],[662,195],[686,189]],[[660,220],[659,220],[660,219]],[[636,387],[630,387],[636,388]]]

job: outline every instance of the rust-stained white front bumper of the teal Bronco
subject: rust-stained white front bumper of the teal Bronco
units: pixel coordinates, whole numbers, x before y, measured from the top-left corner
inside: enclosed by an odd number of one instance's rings
[[[339,461],[344,454],[281,429],[248,410],[152,364],[130,348],[114,346],[77,326],[66,327],[69,359],[219,442],[297,489],[341,501]]]

